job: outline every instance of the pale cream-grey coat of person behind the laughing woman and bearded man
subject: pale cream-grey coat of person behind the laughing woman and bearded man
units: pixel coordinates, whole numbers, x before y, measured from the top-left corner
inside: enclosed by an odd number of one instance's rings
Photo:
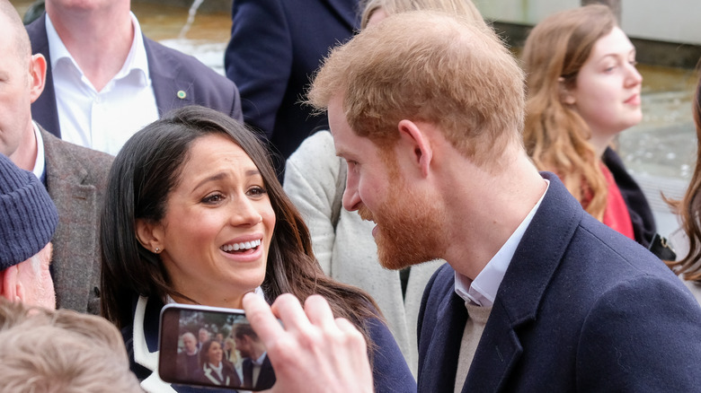
[[[416,375],[416,319],[421,295],[430,275],[443,261],[412,266],[403,299],[399,272],[377,261],[374,223],[362,221],[356,212],[342,206],[346,163],[336,156],[331,133],[319,131],[306,138],[286,165],[285,191],[309,227],[312,248],[324,273],[362,288],[377,301]]]

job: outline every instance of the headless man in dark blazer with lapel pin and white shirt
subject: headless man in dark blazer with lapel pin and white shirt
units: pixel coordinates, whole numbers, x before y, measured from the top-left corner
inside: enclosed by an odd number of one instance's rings
[[[198,104],[243,120],[234,83],[143,36],[129,0],[48,0],[27,26],[48,62],[34,118],[63,140],[116,155],[165,112]]]

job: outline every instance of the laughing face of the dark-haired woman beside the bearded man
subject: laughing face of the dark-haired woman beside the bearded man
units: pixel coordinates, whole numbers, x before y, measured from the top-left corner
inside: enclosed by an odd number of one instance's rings
[[[275,214],[260,171],[226,136],[192,142],[163,220],[146,225],[173,289],[192,300],[241,308],[262,284]]]

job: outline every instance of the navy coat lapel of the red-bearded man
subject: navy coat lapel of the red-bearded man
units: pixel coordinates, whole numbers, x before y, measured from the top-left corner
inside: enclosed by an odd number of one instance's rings
[[[542,175],[550,186],[501,282],[463,392],[508,390],[511,372],[528,351],[519,327],[537,318],[547,286],[581,221],[581,206],[560,180],[551,173]]]

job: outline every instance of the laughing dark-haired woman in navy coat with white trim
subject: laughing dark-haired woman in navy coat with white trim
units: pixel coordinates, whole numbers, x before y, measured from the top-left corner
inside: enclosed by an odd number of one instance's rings
[[[365,335],[376,391],[416,389],[375,302],[324,275],[265,148],[226,115],[177,109],[129,139],[111,168],[101,241],[102,314],[122,329],[147,391],[179,389],[155,373],[165,303],[240,309],[249,292],[321,294]]]

